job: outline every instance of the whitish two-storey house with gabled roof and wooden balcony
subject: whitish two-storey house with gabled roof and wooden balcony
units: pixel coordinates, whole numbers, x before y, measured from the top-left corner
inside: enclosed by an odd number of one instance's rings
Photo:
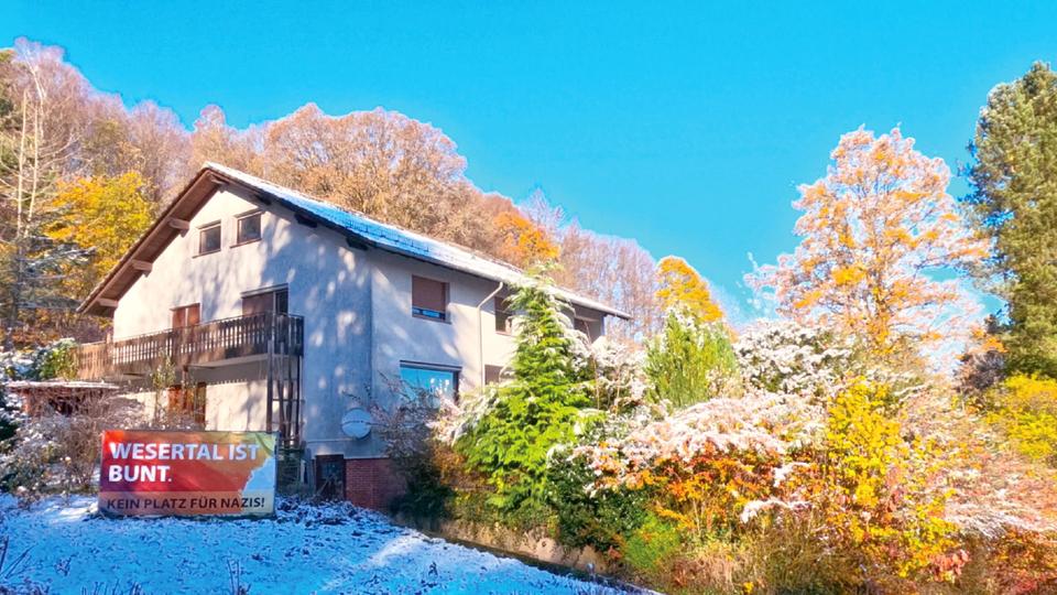
[[[80,378],[144,404],[167,391],[207,430],[276,432],[298,480],[381,507],[399,480],[370,405],[392,407],[402,382],[454,397],[495,380],[513,350],[503,299],[523,279],[210,163],[81,304],[112,329],[81,346]],[[628,317],[555,291],[591,338]]]

